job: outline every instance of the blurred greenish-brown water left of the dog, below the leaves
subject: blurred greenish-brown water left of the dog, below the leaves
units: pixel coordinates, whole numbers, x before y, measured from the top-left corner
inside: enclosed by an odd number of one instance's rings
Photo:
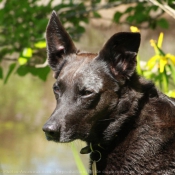
[[[48,142],[42,131],[56,104],[53,82],[52,75],[46,82],[31,75],[0,81],[0,175],[79,174],[70,144]],[[81,158],[88,169],[88,156]]]

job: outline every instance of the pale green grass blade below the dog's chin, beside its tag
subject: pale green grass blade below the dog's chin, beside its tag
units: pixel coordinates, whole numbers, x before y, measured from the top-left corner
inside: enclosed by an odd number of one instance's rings
[[[80,172],[81,175],[88,175],[81,159],[80,159],[80,156],[79,156],[79,153],[74,145],[74,143],[71,143],[71,148],[72,148],[72,152],[73,152],[73,155],[74,155],[74,159],[75,159],[75,162],[77,164],[77,167],[78,167],[78,170]]]

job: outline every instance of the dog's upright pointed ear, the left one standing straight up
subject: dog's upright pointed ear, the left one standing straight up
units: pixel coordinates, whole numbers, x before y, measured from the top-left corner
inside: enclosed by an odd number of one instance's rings
[[[76,53],[77,49],[62,26],[55,11],[52,12],[46,29],[48,64],[55,71],[64,56]]]

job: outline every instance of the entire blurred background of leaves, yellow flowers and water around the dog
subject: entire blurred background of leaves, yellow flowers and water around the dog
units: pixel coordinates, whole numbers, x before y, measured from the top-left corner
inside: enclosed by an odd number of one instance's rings
[[[72,146],[48,142],[42,131],[56,105],[45,42],[52,10],[80,50],[140,32],[138,73],[175,96],[174,9],[174,0],[0,0],[0,175],[80,174]],[[88,170],[88,155],[80,156]]]

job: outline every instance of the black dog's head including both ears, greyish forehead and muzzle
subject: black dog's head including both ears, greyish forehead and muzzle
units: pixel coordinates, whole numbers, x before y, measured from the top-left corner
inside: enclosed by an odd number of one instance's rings
[[[43,127],[47,139],[99,142],[104,135],[109,135],[113,121],[122,123],[113,113],[122,114],[129,107],[119,101],[121,88],[135,72],[140,34],[117,33],[98,54],[81,53],[53,12],[46,39],[57,101]]]

